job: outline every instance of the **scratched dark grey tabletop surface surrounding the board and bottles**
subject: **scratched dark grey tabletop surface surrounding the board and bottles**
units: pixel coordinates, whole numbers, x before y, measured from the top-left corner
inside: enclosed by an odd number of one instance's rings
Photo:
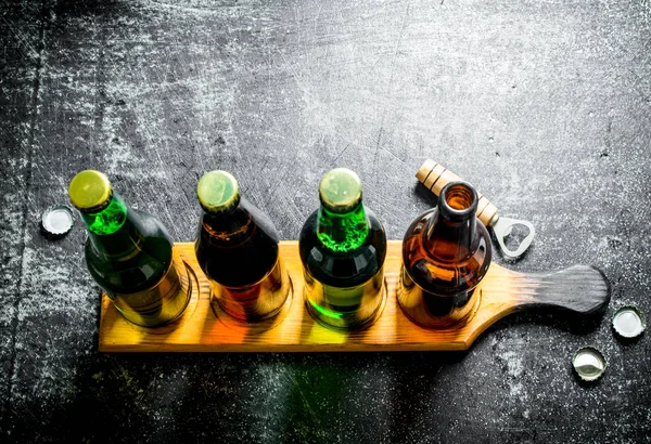
[[[2,2],[0,441],[651,442],[649,332],[609,324],[651,315],[650,31],[648,0]],[[39,234],[94,168],[192,240],[219,168],[295,239],[346,166],[398,239],[426,158],[536,226],[497,263],[602,270],[604,315],[513,315],[464,353],[100,354],[79,220]]]

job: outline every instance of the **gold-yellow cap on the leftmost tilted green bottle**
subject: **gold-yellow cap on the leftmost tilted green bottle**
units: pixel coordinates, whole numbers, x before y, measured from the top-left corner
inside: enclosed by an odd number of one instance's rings
[[[81,171],[71,181],[68,195],[73,205],[84,212],[97,212],[111,201],[113,190],[108,178],[95,170]]]

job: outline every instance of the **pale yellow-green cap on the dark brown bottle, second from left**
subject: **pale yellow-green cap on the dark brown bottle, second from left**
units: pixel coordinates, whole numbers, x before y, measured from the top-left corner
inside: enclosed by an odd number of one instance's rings
[[[196,197],[202,208],[209,213],[232,211],[240,203],[240,186],[229,172],[206,172],[196,185]]]

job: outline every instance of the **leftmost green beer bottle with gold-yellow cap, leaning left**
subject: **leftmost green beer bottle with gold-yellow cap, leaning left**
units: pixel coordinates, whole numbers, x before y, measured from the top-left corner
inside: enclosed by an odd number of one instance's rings
[[[143,327],[179,318],[190,300],[188,272],[161,222],[127,207],[99,171],[75,175],[68,195],[88,230],[88,270],[124,317]]]

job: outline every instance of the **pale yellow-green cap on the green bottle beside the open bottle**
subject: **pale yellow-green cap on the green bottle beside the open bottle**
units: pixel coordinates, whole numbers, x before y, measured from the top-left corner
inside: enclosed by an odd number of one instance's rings
[[[361,201],[361,181],[354,171],[335,168],[323,174],[319,197],[328,210],[346,213]]]

